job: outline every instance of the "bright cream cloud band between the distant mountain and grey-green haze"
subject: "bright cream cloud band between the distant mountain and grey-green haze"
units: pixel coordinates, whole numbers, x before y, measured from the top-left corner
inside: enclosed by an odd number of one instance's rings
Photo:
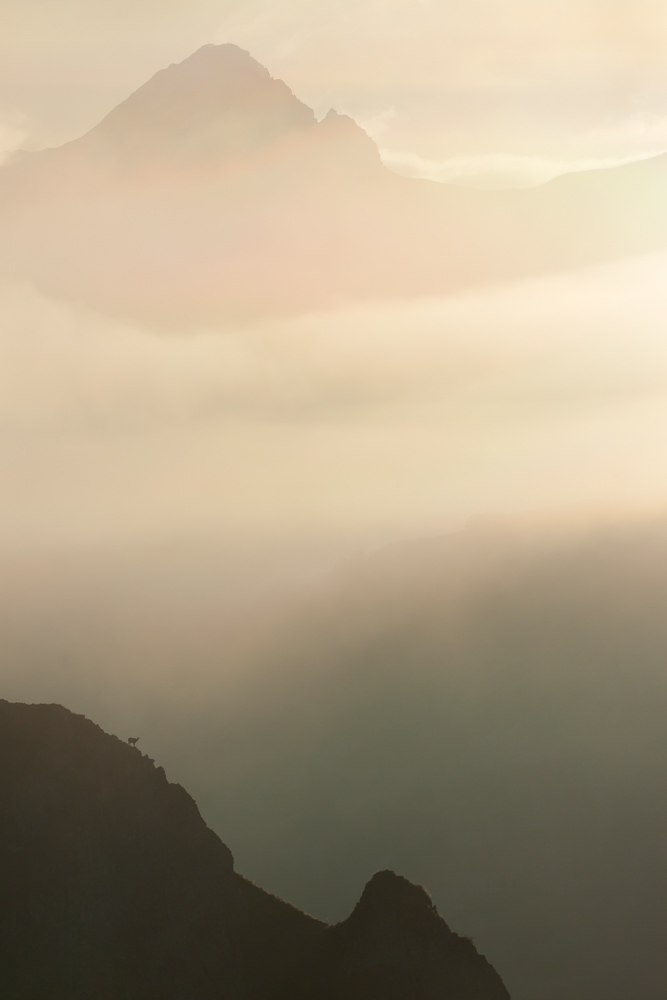
[[[655,508],[664,267],[178,336],[5,284],[2,536]]]

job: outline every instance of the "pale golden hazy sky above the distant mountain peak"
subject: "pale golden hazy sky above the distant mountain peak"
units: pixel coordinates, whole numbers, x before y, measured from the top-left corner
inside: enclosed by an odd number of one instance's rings
[[[407,172],[543,179],[667,148],[664,0],[1,0],[0,146],[72,138],[210,41]]]

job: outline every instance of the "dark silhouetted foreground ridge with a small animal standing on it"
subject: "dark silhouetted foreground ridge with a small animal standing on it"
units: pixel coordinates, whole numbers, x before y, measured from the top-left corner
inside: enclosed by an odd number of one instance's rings
[[[428,894],[373,876],[328,927],[234,871],[162,768],[0,700],[3,1000],[509,1000]]]

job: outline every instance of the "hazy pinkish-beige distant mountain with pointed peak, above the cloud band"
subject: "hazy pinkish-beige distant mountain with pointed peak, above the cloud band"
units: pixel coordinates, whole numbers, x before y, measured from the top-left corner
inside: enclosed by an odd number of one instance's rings
[[[387,170],[234,45],[0,170],[0,264],[157,324],[443,294],[667,245],[667,158],[480,192]]]

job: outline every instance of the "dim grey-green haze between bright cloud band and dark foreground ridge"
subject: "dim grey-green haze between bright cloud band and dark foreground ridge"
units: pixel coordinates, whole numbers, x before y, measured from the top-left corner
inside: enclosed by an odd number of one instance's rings
[[[664,526],[238,570],[194,544],[6,562],[4,692],[139,733],[318,916],[389,866],[517,1000],[661,996]]]

